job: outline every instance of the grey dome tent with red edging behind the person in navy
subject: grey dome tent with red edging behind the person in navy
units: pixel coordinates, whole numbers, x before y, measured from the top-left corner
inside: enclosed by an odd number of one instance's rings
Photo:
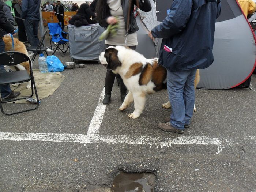
[[[167,16],[172,0],[157,0],[157,20]],[[251,76],[256,65],[256,39],[253,30],[236,0],[221,0],[221,15],[214,36],[214,63],[200,70],[197,87],[229,89]]]

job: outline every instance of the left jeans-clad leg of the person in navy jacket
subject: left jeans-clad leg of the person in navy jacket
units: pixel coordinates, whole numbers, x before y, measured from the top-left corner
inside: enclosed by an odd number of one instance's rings
[[[167,70],[167,89],[172,106],[170,124],[176,129],[184,129],[185,103],[183,99],[183,90],[190,73],[191,71],[171,72]]]

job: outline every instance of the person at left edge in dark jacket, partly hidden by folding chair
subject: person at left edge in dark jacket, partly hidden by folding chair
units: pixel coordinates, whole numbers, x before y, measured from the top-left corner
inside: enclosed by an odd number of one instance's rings
[[[14,28],[11,22],[6,18],[5,12],[3,11],[2,2],[0,2],[0,53],[4,52],[5,47],[4,41],[2,39],[2,37],[4,36],[4,34],[2,33],[3,30],[8,33],[14,33]],[[0,74],[1,73],[6,73],[4,65],[0,65]],[[12,91],[9,85],[0,86],[0,92],[1,99],[4,102],[10,99],[14,99],[20,95],[20,92]]]

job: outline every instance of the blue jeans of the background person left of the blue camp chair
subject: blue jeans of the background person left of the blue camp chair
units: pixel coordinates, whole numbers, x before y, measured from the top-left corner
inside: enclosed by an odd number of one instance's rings
[[[39,44],[38,38],[38,20],[25,19],[24,25],[27,32],[27,38],[31,46],[37,47]]]

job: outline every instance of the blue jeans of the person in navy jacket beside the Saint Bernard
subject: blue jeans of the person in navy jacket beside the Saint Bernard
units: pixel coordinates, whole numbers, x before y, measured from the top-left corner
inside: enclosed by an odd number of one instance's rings
[[[167,70],[167,89],[172,114],[170,124],[177,129],[184,129],[193,116],[195,104],[194,80],[196,69],[171,72]]]

